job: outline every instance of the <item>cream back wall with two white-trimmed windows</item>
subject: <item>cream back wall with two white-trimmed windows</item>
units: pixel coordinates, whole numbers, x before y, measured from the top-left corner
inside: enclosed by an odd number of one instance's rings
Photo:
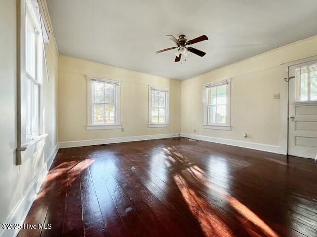
[[[180,132],[181,82],[145,73],[59,55],[59,142]],[[124,132],[86,130],[86,75],[121,80],[121,121]],[[148,128],[148,85],[170,88],[170,127]]]

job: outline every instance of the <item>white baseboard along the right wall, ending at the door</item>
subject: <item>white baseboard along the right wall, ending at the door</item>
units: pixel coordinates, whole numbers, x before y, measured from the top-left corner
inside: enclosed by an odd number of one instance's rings
[[[254,149],[259,151],[286,155],[286,153],[282,151],[280,146],[255,143],[255,142],[239,141],[239,140],[231,140],[231,139],[210,137],[210,136],[203,136],[203,135],[196,135],[196,134],[188,134],[188,133],[181,133],[181,137],[194,138],[197,140],[202,140],[207,142],[221,143],[221,144],[226,144],[226,145],[231,145],[236,147],[243,147],[243,148],[249,148],[249,149]]]

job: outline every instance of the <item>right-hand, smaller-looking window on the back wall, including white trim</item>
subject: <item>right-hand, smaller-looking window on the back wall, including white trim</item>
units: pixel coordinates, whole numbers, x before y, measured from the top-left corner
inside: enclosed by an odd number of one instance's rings
[[[169,89],[149,86],[148,127],[169,127]]]

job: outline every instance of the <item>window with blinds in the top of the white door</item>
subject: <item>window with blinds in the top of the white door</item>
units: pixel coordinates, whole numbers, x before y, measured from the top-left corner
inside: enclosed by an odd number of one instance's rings
[[[295,70],[296,101],[317,101],[317,64]]]

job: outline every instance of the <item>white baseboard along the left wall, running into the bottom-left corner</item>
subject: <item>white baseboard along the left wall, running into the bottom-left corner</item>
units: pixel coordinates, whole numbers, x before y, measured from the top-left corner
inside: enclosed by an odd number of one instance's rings
[[[29,210],[33,204],[33,201],[53,163],[53,160],[58,152],[58,144],[53,148],[51,154],[48,157],[47,163],[43,164],[41,170],[37,173],[37,175],[32,180],[31,184],[22,195],[19,202],[14,207],[13,211],[9,215],[9,217],[4,222],[5,224],[13,224],[20,223],[23,224]],[[19,233],[20,229],[0,229],[0,237],[16,237]]]

